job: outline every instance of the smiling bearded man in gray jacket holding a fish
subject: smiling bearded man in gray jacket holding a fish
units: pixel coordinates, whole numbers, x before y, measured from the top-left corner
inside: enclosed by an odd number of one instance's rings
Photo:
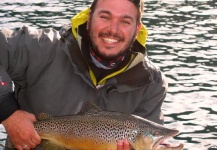
[[[141,4],[94,0],[60,34],[30,27],[1,31],[0,122],[18,150],[40,144],[35,115],[76,114],[86,100],[163,123],[167,83],[147,58]],[[129,149],[124,143],[118,149]]]

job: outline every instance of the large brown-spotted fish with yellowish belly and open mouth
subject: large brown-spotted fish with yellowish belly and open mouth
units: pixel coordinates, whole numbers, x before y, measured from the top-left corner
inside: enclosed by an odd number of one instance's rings
[[[34,126],[46,150],[111,150],[117,140],[128,139],[135,150],[181,150],[183,145],[167,148],[161,143],[178,134],[177,130],[144,118],[118,112],[101,111],[87,102],[82,112],[72,116],[40,115]],[[156,139],[157,138],[157,139]]]

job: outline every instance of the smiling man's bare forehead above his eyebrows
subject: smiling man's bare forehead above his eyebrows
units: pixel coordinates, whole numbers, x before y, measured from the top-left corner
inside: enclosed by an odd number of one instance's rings
[[[129,0],[98,0],[95,12],[108,11],[113,15],[128,15],[136,18],[138,10]]]

